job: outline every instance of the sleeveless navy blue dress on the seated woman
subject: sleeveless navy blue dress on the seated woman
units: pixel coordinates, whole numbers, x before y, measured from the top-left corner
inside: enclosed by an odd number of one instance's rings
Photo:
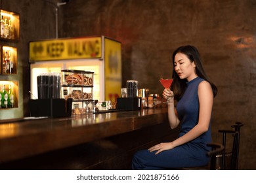
[[[186,91],[177,104],[177,112],[181,120],[181,131],[179,137],[190,131],[199,119],[198,85],[203,79],[194,78],[187,82]],[[210,150],[206,146],[211,142],[211,125],[207,132],[200,137],[177,146],[171,150],[165,150],[160,154],[148,150],[140,150],[133,156],[132,169],[172,169],[180,167],[200,167],[207,165]]]

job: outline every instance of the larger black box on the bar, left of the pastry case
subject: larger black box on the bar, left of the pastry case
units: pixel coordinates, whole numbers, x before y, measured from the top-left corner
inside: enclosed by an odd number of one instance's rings
[[[30,99],[29,107],[30,116],[67,117],[72,114],[72,99]]]

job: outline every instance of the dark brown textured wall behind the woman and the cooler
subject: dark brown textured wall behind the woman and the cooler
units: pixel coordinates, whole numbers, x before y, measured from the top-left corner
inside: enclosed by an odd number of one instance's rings
[[[27,116],[28,41],[55,38],[58,0],[0,2],[1,8],[20,13],[18,63]],[[175,48],[198,47],[207,74],[219,88],[213,107],[213,141],[221,142],[218,129],[243,122],[239,168],[256,169],[255,0],[71,0],[58,13],[59,37],[105,35],[121,41],[123,86],[128,79],[139,80],[139,88],[149,88],[150,93],[161,94],[158,79],[171,77]]]

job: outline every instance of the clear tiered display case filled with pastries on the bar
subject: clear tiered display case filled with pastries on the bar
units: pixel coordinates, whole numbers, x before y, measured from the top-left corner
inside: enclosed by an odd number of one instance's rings
[[[93,72],[62,70],[62,97],[73,99],[72,114],[93,112]]]

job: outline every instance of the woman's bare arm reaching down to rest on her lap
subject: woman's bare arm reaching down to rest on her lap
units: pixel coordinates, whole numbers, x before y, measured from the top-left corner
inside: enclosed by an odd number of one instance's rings
[[[198,124],[188,131],[188,133],[173,142],[160,143],[153,146],[149,149],[150,152],[158,150],[158,152],[156,152],[156,154],[158,154],[164,150],[175,148],[176,146],[180,146],[186,142],[196,139],[208,130],[211,121],[211,111],[213,108],[213,91],[209,82],[203,81],[199,84],[198,98],[200,103]]]

